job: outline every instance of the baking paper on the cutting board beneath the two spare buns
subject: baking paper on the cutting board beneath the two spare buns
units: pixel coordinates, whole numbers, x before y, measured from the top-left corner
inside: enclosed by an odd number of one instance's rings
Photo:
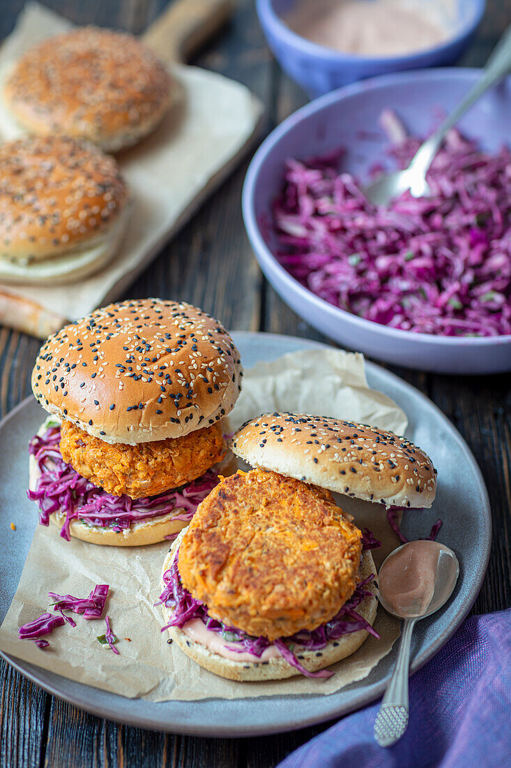
[[[72,27],[67,19],[28,2],[0,48],[0,92],[12,62],[31,45]],[[76,319],[113,301],[133,282],[179,227],[239,160],[262,114],[245,86],[198,67],[172,65],[183,103],[140,144],[117,155],[134,197],[124,243],[117,257],[93,276],[64,286],[2,284],[63,318]],[[0,99],[0,137],[23,131]]]

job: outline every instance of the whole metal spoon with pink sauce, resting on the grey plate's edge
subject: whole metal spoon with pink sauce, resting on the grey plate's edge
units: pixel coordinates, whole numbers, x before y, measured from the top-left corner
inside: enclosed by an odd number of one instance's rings
[[[460,564],[449,547],[437,541],[409,541],[394,549],[378,574],[380,602],[389,614],[403,619],[396,667],[374,721],[374,738],[392,746],[408,726],[410,644],[419,619],[434,614],[453,594]]]

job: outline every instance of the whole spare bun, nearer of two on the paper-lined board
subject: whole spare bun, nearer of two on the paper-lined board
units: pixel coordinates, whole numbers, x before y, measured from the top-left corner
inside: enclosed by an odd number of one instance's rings
[[[64,137],[0,147],[0,281],[62,283],[115,255],[129,210],[113,157]]]

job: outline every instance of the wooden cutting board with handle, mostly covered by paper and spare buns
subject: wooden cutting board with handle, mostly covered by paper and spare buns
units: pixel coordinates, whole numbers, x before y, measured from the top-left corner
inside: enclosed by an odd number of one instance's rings
[[[234,0],[174,0],[147,28],[142,39],[166,63],[183,64],[200,45],[212,38],[226,23],[232,13],[233,5]],[[147,5],[143,0],[138,0],[136,8],[138,19],[143,25],[145,21],[143,15],[147,12]],[[136,22],[137,20],[135,25]],[[232,162],[226,163],[226,171],[232,167],[237,157],[238,155],[232,157]],[[190,213],[195,210],[199,200],[202,200],[210,189],[211,184],[206,182],[204,194],[198,194],[197,201],[190,204]],[[180,216],[178,224],[186,220],[186,213],[184,211],[183,216]],[[175,230],[176,227],[173,227],[172,233]],[[155,249],[148,259],[152,258],[154,253]],[[143,260],[143,263],[140,263],[140,269],[146,263],[147,260]],[[129,273],[119,280],[118,293],[125,290],[140,269],[129,270]],[[54,292],[62,290],[62,287],[55,286]],[[64,287],[68,290],[73,289],[72,284]],[[69,318],[64,316],[64,313],[51,309],[51,303],[48,303],[48,300],[43,306],[42,302],[38,303],[32,296],[23,295],[25,292],[22,286],[12,286],[12,288],[16,290],[11,290],[11,286],[0,286],[0,323],[3,325],[45,339],[68,322]],[[27,290],[26,293],[30,294],[30,291]],[[110,299],[109,296],[107,300]]]

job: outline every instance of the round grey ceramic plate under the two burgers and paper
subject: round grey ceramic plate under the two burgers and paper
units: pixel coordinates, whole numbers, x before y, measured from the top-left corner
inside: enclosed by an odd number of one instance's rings
[[[291,336],[234,333],[242,360],[249,368],[259,360],[270,361],[287,352],[322,346]],[[434,508],[407,515],[404,531],[417,538],[443,518],[440,540],[456,551],[461,575],[447,608],[417,624],[412,645],[412,671],[416,671],[457,629],[480,590],[490,554],[491,521],[488,496],[473,455],[446,417],[417,389],[384,369],[367,364],[371,387],[391,396],[407,413],[407,436],[430,453],[440,477]],[[0,619],[15,593],[36,524],[35,506],[25,496],[27,444],[41,424],[41,409],[27,399],[0,423],[0,529],[16,525],[15,537],[2,548],[0,564]],[[5,534],[2,540],[5,541]],[[381,695],[394,663],[395,650],[369,677],[331,696],[271,697],[249,700],[168,701],[149,703],[108,694],[32,664],[6,657],[8,662],[49,693],[100,717],[138,727],[196,733],[201,736],[248,736],[277,733],[337,717]]]

